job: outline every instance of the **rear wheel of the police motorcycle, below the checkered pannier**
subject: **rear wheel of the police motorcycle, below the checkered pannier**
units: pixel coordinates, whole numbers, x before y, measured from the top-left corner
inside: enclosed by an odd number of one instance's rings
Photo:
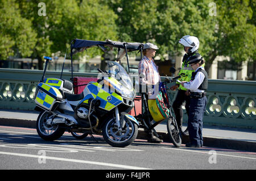
[[[51,120],[53,116],[54,115],[47,111],[42,111],[38,116],[38,120],[36,120],[36,131],[43,140],[57,140],[65,132],[65,128],[60,128],[59,125],[50,124],[49,120]]]

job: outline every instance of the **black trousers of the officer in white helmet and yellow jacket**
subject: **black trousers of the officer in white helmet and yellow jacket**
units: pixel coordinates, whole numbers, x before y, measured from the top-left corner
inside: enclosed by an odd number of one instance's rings
[[[183,121],[183,109],[182,104],[185,102],[185,109],[187,111],[187,115],[189,115],[189,104],[190,104],[190,97],[185,94],[185,90],[178,90],[177,96],[172,103],[172,108],[174,108],[174,113],[177,121],[177,125],[179,128],[182,128],[182,121]]]

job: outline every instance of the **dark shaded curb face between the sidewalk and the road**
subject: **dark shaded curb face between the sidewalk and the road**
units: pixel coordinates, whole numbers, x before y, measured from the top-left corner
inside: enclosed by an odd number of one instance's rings
[[[0,117],[0,125],[11,127],[36,128],[36,120]],[[167,132],[158,131],[157,133],[164,142],[170,142],[170,138]],[[137,139],[146,140],[146,136],[147,134],[143,131],[143,129],[140,128]],[[204,136],[203,140],[204,146],[256,152],[256,142],[211,136]],[[186,144],[187,142],[189,142],[189,136],[183,136],[182,144]]]

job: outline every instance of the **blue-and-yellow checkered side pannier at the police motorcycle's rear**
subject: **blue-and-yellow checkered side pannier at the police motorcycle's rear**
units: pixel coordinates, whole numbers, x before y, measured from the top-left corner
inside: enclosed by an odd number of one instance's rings
[[[45,83],[39,83],[35,95],[36,105],[48,111],[52,109],[56,99],[62,98],[59,90]]]

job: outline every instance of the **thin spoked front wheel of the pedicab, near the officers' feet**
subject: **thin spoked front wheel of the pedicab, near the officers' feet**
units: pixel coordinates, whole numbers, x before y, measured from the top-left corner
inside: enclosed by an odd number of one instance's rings
[[[180,147],[182,140],[180,137],[179,129],[177,129],[177,122],[174,117],[170,117],[167,120],[167,131],[174,146]]]

